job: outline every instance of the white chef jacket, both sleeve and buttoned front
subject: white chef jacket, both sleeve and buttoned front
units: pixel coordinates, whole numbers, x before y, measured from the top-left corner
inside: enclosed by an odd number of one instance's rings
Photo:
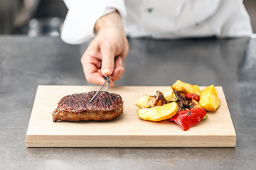
[[[68,13],[61,38],[80,44],[95,36],[98,18],[117,10],[131,38],[249,37],[242,0],[63,0]]]

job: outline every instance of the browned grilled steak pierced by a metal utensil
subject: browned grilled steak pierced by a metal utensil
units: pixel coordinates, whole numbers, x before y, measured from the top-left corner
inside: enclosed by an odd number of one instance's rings
[[[96,91],[88,93],[70,94],[64,96],[58,102],[53,112],[53,122],[58,120],[82,121],[82,120],[112,120],[123,113],[123,101],[119,94],[110,94],[100,91],[97,97],[90,103],[90,99]]]

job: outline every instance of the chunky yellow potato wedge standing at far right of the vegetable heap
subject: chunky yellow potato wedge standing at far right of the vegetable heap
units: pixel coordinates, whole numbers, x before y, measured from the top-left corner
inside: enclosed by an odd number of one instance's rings
[[[199,104],[206,111],[215,111],[220,106],[220,99],[214,85],[210,85],[203,89],[200,95]]]

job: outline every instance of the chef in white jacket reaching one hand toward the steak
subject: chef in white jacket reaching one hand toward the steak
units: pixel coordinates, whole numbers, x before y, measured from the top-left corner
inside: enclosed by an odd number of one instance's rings
[[[61,38],[93,40],[81,62],[87,81],[110,85],[124,73],[130,38],[238,38],[252,33],[242,0],[64,0]]]

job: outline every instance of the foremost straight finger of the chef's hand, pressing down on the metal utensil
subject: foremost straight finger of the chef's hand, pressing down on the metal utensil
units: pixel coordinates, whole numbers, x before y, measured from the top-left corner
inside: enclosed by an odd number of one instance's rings
[[[102,75],[110,76],[114,72],[114,52],[115,49],[108,47],[102,48]]]

